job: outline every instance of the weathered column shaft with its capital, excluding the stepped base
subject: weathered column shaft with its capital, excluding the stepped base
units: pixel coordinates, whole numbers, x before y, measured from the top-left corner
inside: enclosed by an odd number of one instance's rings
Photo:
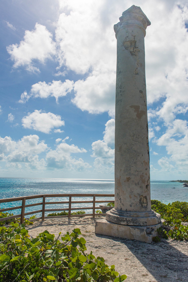
[[[115,112],[115,209],[151,211],[144,36],[150,21],[140,7],[120,17]]]

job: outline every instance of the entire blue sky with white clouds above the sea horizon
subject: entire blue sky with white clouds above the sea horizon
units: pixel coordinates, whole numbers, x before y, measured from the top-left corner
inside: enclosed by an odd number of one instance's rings
[[[1,0],[1,177],[114,179],[113,25],[132,5],[151,21],[151,179],[188,179],[184,0]]]

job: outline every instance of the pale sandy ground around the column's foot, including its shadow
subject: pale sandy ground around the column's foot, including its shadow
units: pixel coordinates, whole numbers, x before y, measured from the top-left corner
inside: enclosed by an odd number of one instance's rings
[[[101,217],[102,218],[102,217]],[[188,282],[188,241],[162,239],[159,243],[142,243],[95,234],[95,221],[91,217],[46,219],[35,221],[27,229],[31,236],[48,230],[58,237],[80,228],[87,241],[87,253],[104,257],[106,264],[115,265],[116,271],[127,275],[127,282]]]

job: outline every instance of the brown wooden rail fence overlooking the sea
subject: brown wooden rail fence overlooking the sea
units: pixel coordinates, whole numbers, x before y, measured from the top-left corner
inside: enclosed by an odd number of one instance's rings
[[[69,201],[64,201],[64,202],[46,202],[46,198],[52,198],[52,197],[68,197]],[[72,197],[93,197],[93,201],[72,201]],[[44,219],[51,219],[51,218],[62,218],[62,217],[68,217],[68,219],[70,219],[71,217],[75,217],[75,216],[90,216],[92,215],[93,218],[95,218],[95,215],[99,215],[98,213],[95,213],[96,209],[111,209],[112,207],[96,207],[95,203],[110,203],[114,201],[96,201],[96,197],[114,197],[114,194],[46,194],[46,195],[33,195],[33,196],[26,196],[26,197],[17,197],[17,198],[7,198],[7,199],[0,199],[0,204],[1,203],[7,203],[7,202],[15,202],[15,201],[22,201],[22,205],[21,206],[17,206],[14,208],[5,208],[5,209],[0,209],[0,212],[5,212],[5,211],[12,211],[12,210],[17,210],[17,209],[21,209],[21,214],[18,215],[12,215],[9,217],[5,217],[5,218],[0,218],[0,221],[6,221],[8,219],[14,219],[14,218],[19,218],[20,217],[20,223],[24,222],[24,217],[27,215],[31,215],[34,213],[41,213],[42,212],[42,216],[41,217],[37,217],[35,219],[31,219],[31,221],[36,221],[39,219],[42,219],[42,221],[44,221]],[[42,202],[36,203],[36,204],[29,204],[26,205],[26,200],[30,200],[30,199],[38,199],[38,198],[42,198]],[[83,208],[71,208],[71,204],[81,204],[81,203],[93,203],[93,206],[91,207],[83,207]],[[62,209],[45,209],[46,205],[51,205],[51,204],[68,204],[68,208],[62,208]],[[28,207],[33,207],[33,206],[39,206],[42,205],[42,210],[37,210],[37,211],[31,211],[31,212],[27,212],[25,213],[25,208]],[[77,215],[71,215],[71,211],[74,210],[93,210],[93,213],[85,213],[83,215],[77,214]],[[58,216],[45,216],[45,211],[68,211],[68,215],[58,215]],[[105,213],[100,213],[100,215],[105,215]]]

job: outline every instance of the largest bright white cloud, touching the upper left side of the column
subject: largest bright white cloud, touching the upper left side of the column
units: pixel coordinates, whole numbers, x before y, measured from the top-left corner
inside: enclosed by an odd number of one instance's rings
[[[60,66],[77,74],[87,73],[84,80],[75,82],[72,102],[89,113],[111,113],[116,77],[116,39],[111,19],[115,16],[108,14],[103,19],[104,1],[59,2],[63,11],[69,11],[60,14],[56,28]]]

